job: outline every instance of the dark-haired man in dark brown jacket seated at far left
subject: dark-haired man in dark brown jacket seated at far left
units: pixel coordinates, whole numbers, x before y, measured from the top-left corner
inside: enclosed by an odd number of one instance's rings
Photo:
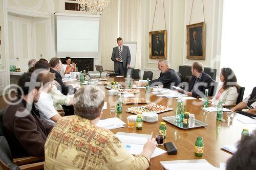
[[[24,73],[18,81],[18,96],[3,114],[5,137],[14,158],[44,156],[45,142],[53,125],[39,117],[38,102],[42,83],[36,74]]]

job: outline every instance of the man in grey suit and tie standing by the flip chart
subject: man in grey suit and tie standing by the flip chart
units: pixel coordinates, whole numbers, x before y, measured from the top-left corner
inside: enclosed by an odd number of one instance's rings
[[[123,45],[121,37],[116,39],[118,46],[113,48],[111,60],[114,61],[114,70],[121,76],[124,75],[126,70],[130,67],[131,54],[129,46]]]

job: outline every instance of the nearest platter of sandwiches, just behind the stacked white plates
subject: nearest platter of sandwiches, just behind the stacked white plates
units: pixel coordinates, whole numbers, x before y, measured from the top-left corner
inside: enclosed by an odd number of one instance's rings
[[[162,113],[166,111],[173,110],[173,108],[169,108],[168,106],[162,106],[159,104],[151,103],[145,106],[139,107],[131,107],[126,110],[126,112],[134,113],[134,114],[142,114],[142,113]]]

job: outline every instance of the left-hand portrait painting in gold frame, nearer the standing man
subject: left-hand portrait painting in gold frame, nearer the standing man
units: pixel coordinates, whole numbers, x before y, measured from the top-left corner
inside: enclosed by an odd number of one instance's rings
[[[150,58],[166,59],[166,30],[150,32]]]

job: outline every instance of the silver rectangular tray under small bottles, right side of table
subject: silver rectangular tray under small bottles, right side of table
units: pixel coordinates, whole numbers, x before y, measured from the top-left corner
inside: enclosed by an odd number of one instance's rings
[[[175,116],[166,116],[166,117],[162,117],[162,119],[181,129],[193,129],[193,128],[199,128],[199,127],[204,127],[208,125],[205,122],[195,119],[194,123],[189,123],[188,127],[184,127],[183,123],[176,123]]]

